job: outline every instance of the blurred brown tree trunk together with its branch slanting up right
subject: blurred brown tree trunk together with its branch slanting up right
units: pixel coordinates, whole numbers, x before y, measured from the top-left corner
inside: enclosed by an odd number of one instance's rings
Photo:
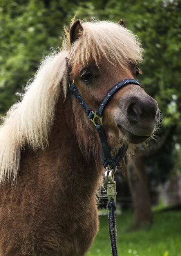
[[[150,194],[148,189],[148,178],[145,171],[145,161],[157,154],[172,140],[176,124],[170,126],[165,133],[152,143],[149,147],[139,147],[134,158],[127,161],[127,180],[132,195],[134,206],[135,225],[134,228],[150,226],[152,224],[152,213],[150,205]]]

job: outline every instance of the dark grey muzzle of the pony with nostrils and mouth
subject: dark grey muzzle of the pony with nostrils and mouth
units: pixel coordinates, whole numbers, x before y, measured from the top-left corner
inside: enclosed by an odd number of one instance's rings
[[[139,144],[148,139],[160,120],[156,100],[145,92],[139,93],[138,96],[128,96],[123,108],[118,112],[120,117],[116,119],[121,120],[117,121],[118,128],[129,143],[133,144]]]

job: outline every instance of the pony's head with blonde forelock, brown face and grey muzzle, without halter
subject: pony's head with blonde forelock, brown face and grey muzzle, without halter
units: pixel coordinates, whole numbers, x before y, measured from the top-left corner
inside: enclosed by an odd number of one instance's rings
[[[143,49],[123,21],[81,24],[76,20],[70,28],[69,45],[70,80],[93,111],[114,84],[126,78],[136,79],[141,73],[138,63],[143,59]],[[73,104],[81,108],[76,100]],[[110,99],[104,110],[103,128],[113,149],[124,141],[142,143],[153,134],[159,119],[156,100],[138,85],[129,84]]]

